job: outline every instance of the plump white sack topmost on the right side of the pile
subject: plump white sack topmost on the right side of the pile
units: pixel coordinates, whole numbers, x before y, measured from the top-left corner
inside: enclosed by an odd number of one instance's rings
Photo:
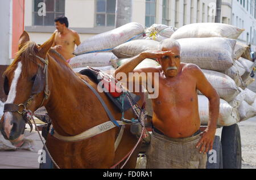
[[[193,23],[177,29],[171,38],[227,37],[237,39],[245,29],[222,23]]]

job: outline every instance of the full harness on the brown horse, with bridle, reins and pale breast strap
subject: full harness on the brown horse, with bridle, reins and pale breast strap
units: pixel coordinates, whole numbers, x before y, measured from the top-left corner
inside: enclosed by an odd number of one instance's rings
[[[30,55],[32,55],[32,54],[30,54]],[[32,117],[33,113],[31,112],[31,110],[28,109],[28,106],[31,105],[31,102],[34,100],[35,95],[38,95],[43,90],[44,90],[44,98],[43,98],[42,103],[41,103],[40,106],[43,105],[44,101],[48,99],[49,94],[50,94],[49,87],[48,87],[48,59],[47,59],[47,57],[46,57],[46,59],[43,59],[42,57],[39,57],[38,55],[35,55],[35,56],[36,56],[36,58],[38,58],[44,64],[44,67],[42,67],[42,65],[40,65],[39,63],[33,61],[34,63],[36,63],[38,65],[39,68],[38,68],[38,71],[37,71],[37,73],[35,75],[35,80],[34,80],[34,83],[32,85],[32,92],[31,92],[30,97],[23,104],[19,104],[19,105],[17,105],[17,104],[5,104],[4,105],[4,110],[3,110],[3,112],[18,112],[19,114],[22,114],[24,121],[26,121],[26,123],[28,123],[28,125],[30,126],[30,129],[31,129],[30,132],[32,131],[32,128],[33,128],[32,123],[31,123],[30,120],[32,119],[34,121],[34,118]],[[100,100],[102,106],[104,107],[106,113],[108,114],[108,116],[110,118],[110,121],[102,123],[101,125],[92,127],[89,130],[87,130],[85,132],[82,132],[81,134],[76,135],[76,136],[61,136],[61,135],[57,134],[56,131],[54,131],[52,126],[51,126],[51,128],[49,130],[49,133],[51,135],[55,136],[55,138],[57,138],[59,140],[64,140],[66,142],[76,142],[76,141],[79,141],[79,140],[88,139],[88,138],[90,138],[92,136],[95,136],[95,135],[100,134],[102,132],[108,131],[111,128],[114,128],[116,126],[117,127],[121,126],[119,128],[118,137],[117,137],[117,139],[115,141],[115,149],[117,149],[118,144],[121,141],[123,130],[124,130],[124,127],[125,127],[123,125],[127,125],[127,124],[131,125],[131,122],[135,122],[134,119],[132,119],[133,121],[125,119],[123,117],[123,113],[124,113],[123,112],[122,113],[122,121],[116,121],[114,119],[112,113],[108,109],[108,106],[106,106],[104,100],[102,100],[102,98],[99,95],[99,93],[88,82],[86,82],[85,80],[82,79],[82,82],[84,82],[93,91],[94,95],[97,96],[98,100]],[[8,80],[7,80],[7,77],[5,77],[4,90],[5,90],[6,95],[8,95],[8,93],[9,93],[8,87],[9,87]],[[133,101],[133,98],[131,98],[129,93],[126,93],[126,96],[129,97],[128,100],[130,102],[130,105],[131,105],[132,109],[134,110],[134,113],[137,115],[137,117],[139,119],[139,120],[137,120],[137,123],[139,122],[143,126],[143,130],[142,130],[141,136],[140,136],[137,144],[125,156],[125,157],[127,157],[127,156],[130,157],[131,154],[133,153],[133,151],[135,150],[135,148],[137,147],[138,143],[141,141],[142,135],[144,134],[144,118],[146,117],[146,114],[144,114],[145,112],[144,112],[143,109],[138,108],[138,106],[136,106],[137,105],[136,102],[135,102],[135,104],[134,104],[134,102],[131,102],[131,101]],[[34,121],[34,123],[35,123],[35,121]],[[35,127],[36,127],[36,124],[35,124]],[[37,127],[36,127],[36,129],[38,130]],[[40,138],[41,138],[41,140],[43,142],[42,136],[40,135],[39,131],[38,131],[38,134],[39,134],[39,136],[40,136]],[[47,149],[46,145],[44,144],[44,142],[43,142],[43,145],[46,148],[46,151],[49,154],[49,157],[53,161],[53,164],[55,164],[55,166],[57,168],[59,168],[59,166],[57,166],[56,162],[53,160],[53,158],[51,157],[50,153],[48,152],[48,149]],[[129,160],[129,157],[127,158],[127,160]],[[127,162],[127,160],[126,160],[126,162]],[[125,164],[126,164],[126,162],[125,162]],[[119,164],[119,162],[118,162],[118,164]],[[125,164],[123,164],[123,166]]]

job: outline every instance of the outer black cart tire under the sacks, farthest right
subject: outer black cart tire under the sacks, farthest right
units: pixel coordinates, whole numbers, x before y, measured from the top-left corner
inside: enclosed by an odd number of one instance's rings
[[[241,136],[237,124],[225,126],[221,132],[222,156],[224,169],[242,168]]]

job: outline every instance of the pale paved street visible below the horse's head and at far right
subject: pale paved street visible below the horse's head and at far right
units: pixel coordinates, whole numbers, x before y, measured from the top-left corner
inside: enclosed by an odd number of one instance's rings
[[[242,139],[242,168],[256,168],[256,117],[238,125]],[[31,134],[26,130],[25,135],[34,140],[35,151],[0,151],[0,168],[39,168],[38,151],[43,144],[35,128]],[[221,128],[217,129],[216,135],[221,135]]]

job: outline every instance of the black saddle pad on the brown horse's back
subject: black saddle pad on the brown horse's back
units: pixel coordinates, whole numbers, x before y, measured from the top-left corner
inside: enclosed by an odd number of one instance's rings
[[[88,76],[90,79],[93,80],[96,84],[100,83],[101,79],[98,79],[98,74],[90,69],[84,69],[79,72],[82,75]],[[104,91],[105,92],[105,91]],[[141,97],[135,95],[134,93],[127,92],[129,93],[130,97],[133,98],[134,101],[131,101],[133,105],[135,105],[136,102],[138,102]],[[105,94],[109,97],[109,99],[113,102],[113,104],[117,107],[119,112],[125,112],[126,110],[131,108],[130,102],[128,100],[127,95],[124,98],[124,104],[122,108],[122,101],[119,97],[113,97],[109,92],[105,92]]]

